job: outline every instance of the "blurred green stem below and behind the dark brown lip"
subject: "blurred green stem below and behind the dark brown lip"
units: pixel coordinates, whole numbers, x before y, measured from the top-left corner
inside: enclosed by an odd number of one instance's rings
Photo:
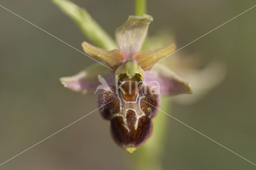
[[[162,98],[161,110],[170,114],[171,98]],[[168,119],[159,111],[152,119],[153,132],[148,141],[130,155],[131,170],[162,170],[162,158],[166,142]]]

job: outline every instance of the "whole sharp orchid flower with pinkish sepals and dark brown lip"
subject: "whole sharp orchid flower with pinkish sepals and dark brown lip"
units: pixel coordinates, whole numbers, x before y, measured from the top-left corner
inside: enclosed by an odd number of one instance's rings
[[[65,87],[82,94],[93,94],[103,82],[108,84],[99,93],[100,112],[111,122],[114,141],[129,152],[139,148],[151,135],[151,119],[160,106],[160,95],[192,93],[188,82],[166,66],[155,64],[174,52],[174,44],[154,51],[140,50],[152,20],[146,14],[129,16],[116,30],[119,49],[108,51],[82,43],[86,54],[101,59],[112,70],[95,64],[74,76],[60,78]]]

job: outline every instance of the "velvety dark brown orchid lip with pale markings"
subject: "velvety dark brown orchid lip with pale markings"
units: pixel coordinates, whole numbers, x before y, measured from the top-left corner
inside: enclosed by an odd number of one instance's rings
[[[137,83],[140,78],[138,74],[132,78],[121,74],[118,78],[118,85],[122,83],[122,89],[118,89],[117,94],[103,90],[98,100],[99,106],[112,100],[102,107],[100,112],[105,119],[110,120],[111,133],[115,142],[129,152],[139,148],[151,135],[151,118],[157,112],[153,106],[159,105],[158,94],[151,94],[149,87],[140,88],[142,82]],[[137,89],[136,85],[138,85]],[[132,89],[130,93],[129,86]],[[141,89],[145,89],[145,92]],[[112,91],[115,91],[113,87]]]

